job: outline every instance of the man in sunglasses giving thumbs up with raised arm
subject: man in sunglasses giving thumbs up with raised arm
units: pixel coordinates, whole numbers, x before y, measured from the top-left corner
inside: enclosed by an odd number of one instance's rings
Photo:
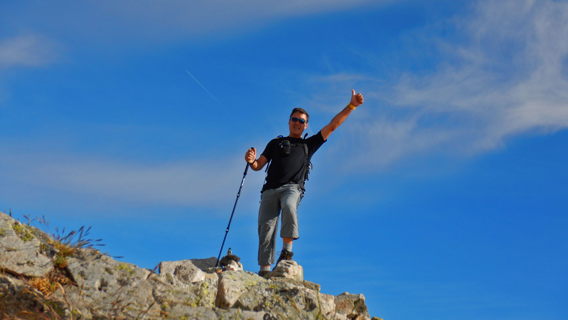
[[[351,102],[314,136],[302,138],[310,116],[306,110],[294,108],[288,121],[288,137],[271,140],[258,159],[255,148],[250,148],[245,154],[245,161],[250,163],[250,168],[254,171],[261,170],[266,163],[272,161],[266,175],[266,183],[262,186],[258,209],[258,275],[265,276],[270,272],[270,265],[274,263],[281,211],[280,236],[283,245],[276,264],[281,260],[292,260],[292,244],[299,237],[296,211],[304,193],[304,179],[307,178],[310,159],[327,141],[329,134],[337,129],[357,106],[363,104],[361,93],[356,94],[353,89],[351,92]]]

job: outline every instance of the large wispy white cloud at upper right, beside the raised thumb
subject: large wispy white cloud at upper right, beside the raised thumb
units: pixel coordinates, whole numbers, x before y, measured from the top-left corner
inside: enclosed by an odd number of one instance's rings
[[[420,154],[478,154],[519,134],[568,127],[568,2],[491,0],[473,9],[449,22],[451,38],[436,26],[415,31],[437,49],[440,62],[426,72],[325,77],[344,88],[359,82],[366,93],[349,128],[352,143],[368,150],[358,159],[367,168]]]

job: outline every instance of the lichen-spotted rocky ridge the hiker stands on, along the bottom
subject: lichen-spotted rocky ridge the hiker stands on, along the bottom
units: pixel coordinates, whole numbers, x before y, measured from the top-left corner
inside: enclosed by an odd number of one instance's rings
[[[53,248],[39,229],[0,213],[0,318],[370,319],[362,294],[320,293],[296,261],[281,261],[265,278],[234,255],[221,266],[215,257],[164,261],[156,273],[93,248],[54,264]]]

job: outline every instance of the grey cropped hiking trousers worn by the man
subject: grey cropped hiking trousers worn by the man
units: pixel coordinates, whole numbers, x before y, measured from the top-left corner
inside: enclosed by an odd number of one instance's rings
[[[276,258],[276,233],[282,211],[281,237],[298,239],[298,206],[302,189],[298,183],[262,192],[258,209],[258,265],[271,265]]]

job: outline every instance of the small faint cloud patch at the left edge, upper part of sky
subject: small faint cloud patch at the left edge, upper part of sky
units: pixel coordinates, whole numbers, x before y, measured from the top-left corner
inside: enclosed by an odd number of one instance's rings
[[[53,42],[41,36],[22,35],[0,40],[0,67],[39,67],[53,63],[57,56]]]

